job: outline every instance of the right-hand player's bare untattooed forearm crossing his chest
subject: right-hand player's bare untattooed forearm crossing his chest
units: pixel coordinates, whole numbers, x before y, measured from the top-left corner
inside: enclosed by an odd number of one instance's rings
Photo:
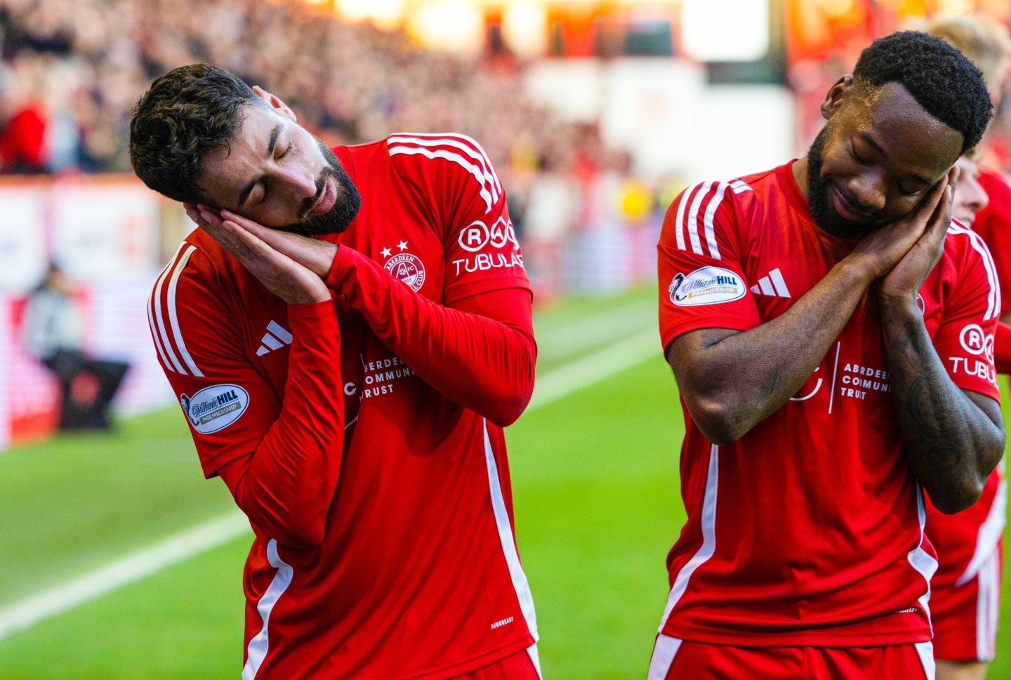
[[[727,332],[711,344],[672,343],[667,360],[706,436],[718,444],[732,443],[782,408],[828,353],[868,284],[865,274],[840,263],[787,312],[761,326]],[[682,349],[683,355],[676,356]]]

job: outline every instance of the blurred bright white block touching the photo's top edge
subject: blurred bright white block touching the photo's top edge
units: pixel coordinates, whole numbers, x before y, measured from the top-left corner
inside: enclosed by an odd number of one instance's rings
[[[683,0],[684,52],[700,62],[752,62],[768,53],[768,0]]]

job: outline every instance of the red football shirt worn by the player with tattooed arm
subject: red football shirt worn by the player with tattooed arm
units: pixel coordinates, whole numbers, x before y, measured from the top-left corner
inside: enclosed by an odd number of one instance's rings
[[[774,319],[854,243],[816,226],[790,164],[686,189],[658,245],[663,346],[701,328],[746,331]],[[997,399],[1000,292],[977,235],[952,225],[920,299],[954,382]],[[707,441],[684,410],[688,519],[667,559],[661,642],[930,640],[936,562],[890,392],[877,300],[867,294],[804,388],[738,442]]]

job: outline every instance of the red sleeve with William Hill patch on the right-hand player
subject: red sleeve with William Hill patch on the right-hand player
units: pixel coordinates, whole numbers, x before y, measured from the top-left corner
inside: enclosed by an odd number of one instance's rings
[[[660,340],[701,328],[747,331],[760,325],[744,276],[734,185],[704,182],[667,208],[657,244]]]

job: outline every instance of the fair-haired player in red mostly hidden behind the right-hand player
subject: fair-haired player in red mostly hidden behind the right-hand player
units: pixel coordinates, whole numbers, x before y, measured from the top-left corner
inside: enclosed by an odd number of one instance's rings
[[[1011,38],[1006,28],[963,16],[932,21],[927,30],[961,51],[983,73],[992,100],[995,103],[1001,100],[1011,55]],[[978,232],[993,254],[1001,284],[1004,321],[1011,304],[1004,300],[1004,294],[1011,294],[1008,288],[1011,186],[999,172],[980,170],[977,162],[985,156],[986,151],[980,149],[972,158],[958,160],[961,174],[952,214],[955,220]],[[994,204],[988,209],[991,196]],[[1000,338],[1000,331],[996,335]],[[999,360],[996,363],[998,370],[1006,369]],[[1003,465],[991,473],[980,500],[963,512],[945,515],[932,503],[927,504],[927,536],[937,550],[938,560],[930,595],[937,680],[983,680],[997,652],[1001,543],[1006,515]]]

